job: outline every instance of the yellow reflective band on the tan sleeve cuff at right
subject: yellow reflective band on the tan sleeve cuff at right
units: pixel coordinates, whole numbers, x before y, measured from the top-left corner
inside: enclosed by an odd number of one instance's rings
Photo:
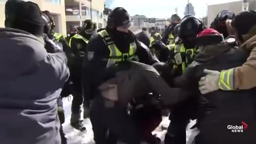
[[[232,91],[234,90],[234,68],[228,70],[222,70],[220,73],[220,79],[218,86],[221,90]]]

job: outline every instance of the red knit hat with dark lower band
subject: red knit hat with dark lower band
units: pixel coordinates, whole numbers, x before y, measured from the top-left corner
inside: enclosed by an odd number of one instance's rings
[[[212,28],[204,29],[197,35],[197,45],[210,45],[222,42],[225,42],[223,35]]]

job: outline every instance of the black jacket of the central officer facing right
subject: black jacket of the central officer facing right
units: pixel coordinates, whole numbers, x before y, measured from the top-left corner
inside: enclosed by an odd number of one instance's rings
[[[147,65],[153,65],[159,62],[151,54],[147,46],[137,41],[137,38],[131,31],[129,33],[123,33],[117,30],[106,30],[120,52],[129,52],[130,43],[135,42],[137,46],[135,55],[138,56],[139,62],[146,63]],[[99,34],[93,35],[87,44],[87,49],[89,52],[83,63],[82,84],[85,97],[92,99],[93,95],[97,93],[97,87],[109,78],[112,78],[115,73],[109,71],[107,68],[110,50],[105,40]]]

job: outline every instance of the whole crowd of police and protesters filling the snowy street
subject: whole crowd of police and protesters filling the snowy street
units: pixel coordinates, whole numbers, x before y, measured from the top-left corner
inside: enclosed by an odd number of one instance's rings
[[[96,144],[161,143],[152,132],[164,115],[165,144],[185,144],[190,119],[195,144],[256,142],[256,12],[223,10],[210,28],[173,14],[163,35],[156,27],[135,35],[131,21],[116,7],[106,28],[85,20],[65,37],[49,11],[7,1],[0,143],[68,143],[62,98],[70,95],[70,125],[85,131],[90,118]]]

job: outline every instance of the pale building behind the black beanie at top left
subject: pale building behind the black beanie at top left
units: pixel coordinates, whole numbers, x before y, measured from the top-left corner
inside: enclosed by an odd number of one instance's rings
[[[0,27],[4,27],[5,20],[5,3],[7,0],[0,0]],[[55,20],[54,31],[66,35],[66,17],[65,17],[65,0],[31,0],[38,4],[42,11],[48,10]]]

